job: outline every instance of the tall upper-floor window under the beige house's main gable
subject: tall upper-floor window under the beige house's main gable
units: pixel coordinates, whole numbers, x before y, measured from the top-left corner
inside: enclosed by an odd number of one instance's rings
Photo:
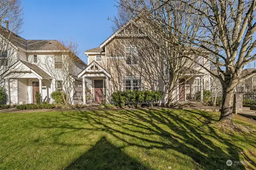
[[[136,65],[138,64],[138,48],[134,45],[126,46],[126,64]]]

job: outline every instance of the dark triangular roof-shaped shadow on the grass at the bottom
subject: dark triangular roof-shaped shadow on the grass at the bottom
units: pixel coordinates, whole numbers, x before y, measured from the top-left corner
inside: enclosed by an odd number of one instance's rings
[[[65,170],[149,170],[136,159],[101,138],[85,154],[74,160]]]

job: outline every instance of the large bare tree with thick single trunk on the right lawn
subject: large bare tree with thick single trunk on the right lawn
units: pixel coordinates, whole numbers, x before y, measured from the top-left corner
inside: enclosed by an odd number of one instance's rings
[[[256,22],[254,18],[255,0],[200,0],[200,1],[139,1],[142,4],[130,8],[134,13],[148,14],[152,20],[157,20],[156,12],[166,4],[184,3],[188,8],[178,8],[186,14],[200,17],[201,22],[191,23],[189,30],[198,27],[198,30],[191,34],[182,34],[182,39],[176,43],[185,50],[195,55],[202,56],[214,64],[217,74],[204,67],[189,56],[192,61],[206,69],[212,77],[216,77],[222,83],[222,109],[219,121],[233,125],[232,109],[234,99],[234,89],[239,80],[243,81],[252,77],[256,71],[246,75],[241,75],[242,69],[248,63],[256,59],[254,48],[256,40],[254,38]],[[157,5],[152,6],[152,3]],[[158,13],[157,13],[158,14]],[[162,15],[167,16],[168,11],[162,11]],[[159,22],[161,24],[161,22]],[[167,28],[174,28],[173,25],[166,25]],[[172,40],[166,40],[171,42]],[[189,44],[189,45],[188,45]],[[207,52],[207,55],[205,53]]]

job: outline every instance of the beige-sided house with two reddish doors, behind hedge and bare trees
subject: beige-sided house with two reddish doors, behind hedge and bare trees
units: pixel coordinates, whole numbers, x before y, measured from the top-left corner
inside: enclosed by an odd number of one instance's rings
[[[104,97],[109,101],[111,94],[115,91],[148,89],[163,91],[164,95],[160,104],[167,103],[168,93],[164,82],[160,77],[152,74],[155,68],[149,68],[143,63],[139,64],[140,57],[143,56],[138,56],[138,60],[131,57],[130,51],[132,48],[138,51],[136,47],[120,45],[122,43],[120,38],[123,37],[128,26],[129,22],[100,44],[100,47],[84,52],[84,55],[88,56],[88,66],[79,73],[78,77],[92,79],[91,93],[96,102],[100,102]],[[116,51],[124,51],[124,54],[118,54]],[[209,68],[209,61],[201,58],[200,62]],[[189,95],[194,95],[198,91],[202,97],[204,84],[210,82],[209,73],[205,69],[193,63],[188,65],[193,69],[180,77],[180,85],[177,85],[172,94],[174,101],[186,101]],[[85,97],[86,94],[83,95]],[[86,103],[85,100],[84,103]]]

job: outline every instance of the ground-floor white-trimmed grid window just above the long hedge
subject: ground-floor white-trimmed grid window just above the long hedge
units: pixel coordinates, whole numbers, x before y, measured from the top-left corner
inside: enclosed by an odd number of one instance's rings
[[[141,78],[126,77],[123,79],[123,90],[140,91],[141,90]]]

